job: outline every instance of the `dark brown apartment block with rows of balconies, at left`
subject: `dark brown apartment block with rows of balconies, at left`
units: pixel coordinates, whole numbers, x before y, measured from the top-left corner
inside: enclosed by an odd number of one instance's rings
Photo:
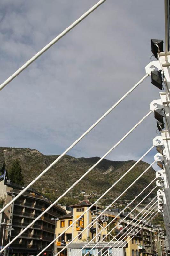
[[[4,197],[4,204],[10,202],[22,190],[20,185],[5,180],[0,181],[0,194]],[[11,204],[1,215],[1,222],[7,225],[1,226],[1,244],[3,246],[18,235],[21,230],[27,227],[36,217],[38,217],[52,202],[34,189],[28,189],[13,204]],[[66,210],[54,205],[46,212],[33,226],[27,229],[11,245],[10,252],[6,254],[16,256],[36,255],[45,248],[53,239],[55,234],[55,221],[51,218],[58,218],[66,215]],[[6,230],[6,228],[14,230]],[[4,239],[2,241],[2,233]],[[11,233],[11,234],[10,234]],[[53,246],[45,252],[47,256],[53,254]]]

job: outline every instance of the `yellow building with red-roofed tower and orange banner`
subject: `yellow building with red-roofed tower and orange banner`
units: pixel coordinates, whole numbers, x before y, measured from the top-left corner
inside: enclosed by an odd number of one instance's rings
[[[60,235],[78,217],[81,216],[79,220],[75,221],[72,227],[68,228],[65,233],[58,238],[55,246],[55,254],[61,251],[61,249],[64,248],[64,246],[74,238],[75,240],[73,243],[71,243],[67,249],[63,250],[60,253],[60,256],[72,256],[79,251],[79,256],[83,256],[87,252],[89,252],[91,255],[95,255],[96,253],[100,254],[101,248],[104,247],[104,245],[107,245],[108,241],[112,239],[113,236],[107,236],[105,241],[102,241],[99,245],[97,245],[95,249],[90,250],[90,248],[92,248],[97,243],[97,241],[100,241],[101,238],[103,238],[106,233],[109,232],[109,230],[103,230],[99,234],[102,228],[104,228],[112,218],[115,218],[113,225],[116,225],[119,221],[119,218],[109,212],[107,215],[101,215],[97,221],[94,221],[92,225],[89,225],[101,212],[101,208],[97,206],[93,206],[91,209],[89,209],[88,212],[86,212],[86,210],[88,210],[91,205],[92,204],[87,200],[83,200],[82,202],[75,205],[70,205],[69,207],[73,209],[73,212],[70,212],[59,218],[56,224],[56,236]],[[88,225],[89,227],[85,229]],[[81,233],[81,231],[83,232]],[[81,248],[83,248],[85,244],[87,244],[87,242],[90,240],[92,241],[88,247],[81,251]],[[109,244],[109,246],[110,245],[112,245],[112,247],[116,246],[115,248],[117,248],[117,246],[121,246],[122,248],[120,256],[124,256],[123,247],[126,246],[126,243],[119,243],[114,241]],[[105,248],[105,251],[107,251],[108,247]],[[109,254],[112,255],[112,248]]]

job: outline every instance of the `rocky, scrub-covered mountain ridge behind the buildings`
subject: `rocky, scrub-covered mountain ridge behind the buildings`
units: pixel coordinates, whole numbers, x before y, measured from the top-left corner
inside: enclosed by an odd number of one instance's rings
[[[58,155],[43,155],[35,149],[29,148],[0,148],[0,167],[3,162],[6,164],[7,170],[12,162],[18,158],[22,166],[25,185],[32,181],[39,173],[41,173],[48,165],[50,165]],[[56,194],[61,195],[67,188],[70,187],[82,174],[84,174],[93,164],[99,160],[99,157],[91,158],[75,158],[69,155],[64,156],[57,164],[46,172],[42,178],[37,181],[34,188],[39,192],[43,189],[50,192],[50,189],[55,189]],[[81,191],[96,192],[101,195],[109,188],[120,176],[125,173],[135,161],[110,161],[104,159],[97,165],[83,180],[81,180],[72,190],[72,195],[79,194]],[[107,197],[117,197],[125,188],[128,187],[147,167],[148,163],[141,161],[133,168],[128,175],[125,176],[107,195]],[[124,195],[126,199],[131,199],[136,196],[146,185],[155,178],[155,171],[150,168],[138,180],[132,188]],[[150,189],[154,187],[153,183]],[[149,190],[142,194],[142,197]],[[68,195],[69,196],[69,195]]]

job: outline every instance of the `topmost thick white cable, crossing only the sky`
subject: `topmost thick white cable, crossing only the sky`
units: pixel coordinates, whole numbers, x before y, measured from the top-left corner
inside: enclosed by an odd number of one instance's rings
[[[16,76],[18,76],[24,69],[26,69],[32,62],[34,62],[38,57],[40,57],[44,52],[46,52],[53,44],[57,43],[59,39],[65,36],[70,30],[72,30],[76,25],[78,25],[82,20],[84,20],[91,12],[96,10],[101,4],[106,0],[100,0],[97,4],[93,5],[87,12],[85,12],[80,18],[75,20],[69,27],[67,27],[63,32],[61,32],[57,37],[55,37],[49,44],[47,44],[43,49],[37,52],[30,60],[28,60],[22,67],[20,67],[15,73],[12,74],[8,79],[0,85],[0,90],[2,90],[7,84],[9,84]]]

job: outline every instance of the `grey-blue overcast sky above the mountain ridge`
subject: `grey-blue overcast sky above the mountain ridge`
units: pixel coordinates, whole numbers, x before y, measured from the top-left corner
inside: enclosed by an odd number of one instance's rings
[[[1,0],[0,82],[95,3]],[[163,2],[107,0],[0,92],[1,146],[61,154],[145,75],[151,38],[164,39]],[[69,155],[103,156],[159,92],[147,78]],[[137,160],[155,136],[151,114],[107,159]]]

